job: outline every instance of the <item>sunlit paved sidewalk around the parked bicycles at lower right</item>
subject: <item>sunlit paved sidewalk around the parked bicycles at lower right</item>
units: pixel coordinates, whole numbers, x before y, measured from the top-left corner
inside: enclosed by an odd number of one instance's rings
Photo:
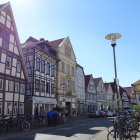
[[[97,133],[91,140],[107,140],[107,134],[108,134],[108,129],[106,128],[103,131]],[[114,139],[112,138],[109,140],[114,140]],[[135,138],[132,138],[132,140],[135,140]],[[136,140],[140,140],[140,132],[137,133]]]

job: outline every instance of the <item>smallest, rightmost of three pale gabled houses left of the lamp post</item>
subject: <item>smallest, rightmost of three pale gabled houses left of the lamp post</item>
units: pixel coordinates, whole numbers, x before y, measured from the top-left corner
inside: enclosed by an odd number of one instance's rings
[[[110,83],[104,83],[105,89],[106,89],[106,109],[111,110],[114,109],[113,105],[113,90],[111,88]]]

